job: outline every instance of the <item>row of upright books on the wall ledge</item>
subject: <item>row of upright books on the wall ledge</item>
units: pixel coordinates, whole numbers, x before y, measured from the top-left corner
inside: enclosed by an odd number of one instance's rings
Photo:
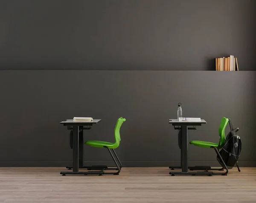
[[[237,58],[233,55],[223,58],[215,58],[216,71],[235,71],[238,69]]]

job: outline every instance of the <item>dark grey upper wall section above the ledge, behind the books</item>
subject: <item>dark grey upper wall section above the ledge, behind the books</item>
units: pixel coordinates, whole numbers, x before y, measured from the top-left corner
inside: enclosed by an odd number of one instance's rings
[[[1,0],[0,69],[256,70],[255,0]]]

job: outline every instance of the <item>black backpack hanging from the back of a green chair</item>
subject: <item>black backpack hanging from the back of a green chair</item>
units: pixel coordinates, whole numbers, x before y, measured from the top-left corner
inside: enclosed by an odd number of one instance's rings
[[[237,127],[234,129],[230,119],[229,119],[229,124],[230,124],[230,132],[227,135],[224,146],[219,152],[224,163],[227,165],[227,168],[232,169],[233,166],[235,166],[235,164],[238,167],[237,162],[241,154],[242,142],[241,142],[241,138],[237,133],[239,128]],[[218,150],[219,150],[219,146],[218,146]],[[225,168],[224,164],[220,161],[218,155],[217,155],[217,160],[221,164],[221,166]]]

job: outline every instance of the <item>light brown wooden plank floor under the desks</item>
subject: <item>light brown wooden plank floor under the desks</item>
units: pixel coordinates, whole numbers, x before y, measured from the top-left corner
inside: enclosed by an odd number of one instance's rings
[[[168,168],[61,176],[63,168],[0,168],[4,203],[256,203],[256,168],[227,176],[170,176]]]

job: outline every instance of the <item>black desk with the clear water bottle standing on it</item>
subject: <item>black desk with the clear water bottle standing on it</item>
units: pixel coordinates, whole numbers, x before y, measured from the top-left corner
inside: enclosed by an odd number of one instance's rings
[[[169,172],[170,175],[212,175],[213,172],[188,172],[188,130],[196,130],[195,126],[201,126],[207,122],[201,119],[201,122],[178,121],[169,119],[176,130],[181,131],[181,172]],[[189,127],[191,126],[191,127]],[[172,168],[172,167],[170,167]]]

